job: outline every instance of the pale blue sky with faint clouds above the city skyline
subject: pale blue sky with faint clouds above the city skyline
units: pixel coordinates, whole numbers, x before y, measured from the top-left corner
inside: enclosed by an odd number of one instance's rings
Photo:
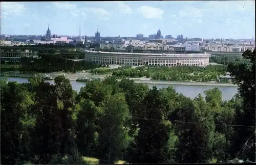
[[[1,34],[255,36],[255,1],[1,2]]]

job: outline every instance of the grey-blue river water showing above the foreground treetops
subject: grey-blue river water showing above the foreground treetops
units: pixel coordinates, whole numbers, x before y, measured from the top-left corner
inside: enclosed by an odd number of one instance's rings
[[[8,81],[17,81],[20,83],[28,82],[27,78],[19,78],[19,77],[8,77]],[[54,84],[54,80],[46,80],[50,82],[50,84]],[[81,87],[86,86],[86,82],[77,82],[71,81],[72,88],[79,92]],[[153,86],[157,86],[158,89],[167,88],[169,85],[148,85],[148,87],[152,88]],[[172,85],[176,92],[182,93],[186,97],[195,98],[198,94],[202,94],[204,96],[204,91],[218,87],[218,86],[187,86],[187,85]],[[238,87],[218,87],[222,92],[223,100],[230,100],[237,92]]]

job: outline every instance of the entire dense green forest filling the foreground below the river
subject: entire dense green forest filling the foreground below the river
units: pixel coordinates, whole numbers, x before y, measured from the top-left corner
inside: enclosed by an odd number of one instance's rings
[[[255,50],[230,63],[239,93],[214,88],[194,99],[114,77],[79,93],[64,76],[1,80],[1,164],[227,162],[255,160]]]

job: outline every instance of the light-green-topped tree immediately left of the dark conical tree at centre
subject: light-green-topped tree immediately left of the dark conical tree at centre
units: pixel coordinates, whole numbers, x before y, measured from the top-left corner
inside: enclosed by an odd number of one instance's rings
[[[114,163],[127,147],[124,121],[129,117],[129,108],[124,95],[118,93],[104,101],[103,109],[104,113],[99,119],[98,158],[100,163]]]

